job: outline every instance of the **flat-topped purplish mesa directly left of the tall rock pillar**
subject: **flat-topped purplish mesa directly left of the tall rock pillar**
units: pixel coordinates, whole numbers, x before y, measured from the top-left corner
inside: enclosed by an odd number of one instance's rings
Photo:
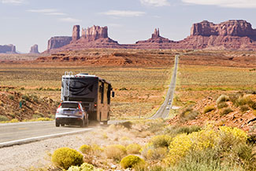
[[[50,49],[58,49],[61,48],[64,45],[69,45],[69,43],[72,41],[72,37],[70,36],[57,36],[52,37],[50,40],[48,40],[48,50]]]

